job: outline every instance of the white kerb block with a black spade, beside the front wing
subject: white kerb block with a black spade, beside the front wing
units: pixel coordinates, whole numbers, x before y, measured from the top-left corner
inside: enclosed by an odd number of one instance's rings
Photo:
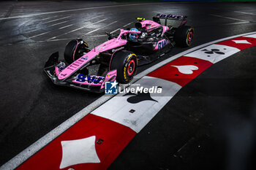
[[[156,101],[145,100],[137,104],[131,104],[127,101],[127,98],[133,98],[135,95],[124,96],[125,93],[119,93],[101,107],[95,109],[91,114],[113,120],[116,123],[132,128],[133,131],[138,133],[181,89],[181,85],[175,82],[148,76],[138,80],[136,84],[140,84],[140,87],[143,88],[161,86],[162,93],[150,94],[151,98]],[[135,112],[131,113],[131,110],[135,110]]]

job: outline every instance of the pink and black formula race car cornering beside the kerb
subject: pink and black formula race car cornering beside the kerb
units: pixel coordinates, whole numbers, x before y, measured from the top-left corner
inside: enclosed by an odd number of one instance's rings
[[[178,26],[169,24],[178,22]],[[44,71],[56,85],[102,92],[105,82],[131,82],[137,67],[168,53],[174,45],[189,47],[194,29],[187,16],[158,14],[153,20],[137,18],[135,28],[108,35],[108,41],[89,49],[83,39],[73,39],[64,50],[64,61],[53,53]]]

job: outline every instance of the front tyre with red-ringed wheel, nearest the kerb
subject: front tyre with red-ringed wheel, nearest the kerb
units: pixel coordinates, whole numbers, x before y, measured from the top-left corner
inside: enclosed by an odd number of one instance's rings
[[[123,84],[132,81],[137,72],[137,66],[138,59],[135,53],[126,50],[115,53],[110,63],[110,69],[117,70],[116,79]]]

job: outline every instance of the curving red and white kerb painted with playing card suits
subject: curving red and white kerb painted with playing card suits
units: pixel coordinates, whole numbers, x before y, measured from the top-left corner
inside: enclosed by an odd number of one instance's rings
[[[241,36],[203,47],[165,64],[136,82],[144,88],[161,88],[161,94],[141,97],[139,93],[119,93],[18,169],[107,169],[178,90],[212,64],[255,46],[255,42],[256,34]]]

